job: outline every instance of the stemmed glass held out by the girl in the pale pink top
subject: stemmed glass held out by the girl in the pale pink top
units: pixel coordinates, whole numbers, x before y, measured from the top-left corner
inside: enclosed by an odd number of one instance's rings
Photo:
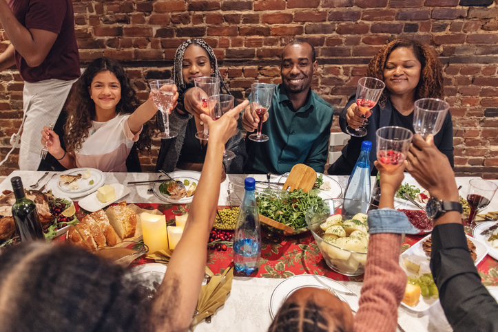
[[[171,86],[169,91],[160,89],[161,87],[168,85]],[[173,103],[173,86],[175,85],[174,80],[149,80],[149,86],[152,94],[152,102],[154,106],[157,107],[163,115],[164,123],[164,133],[158,133],[159,138],[174,138],[178,136],[176,131],[169,130],[169,113],[171,112]]]

